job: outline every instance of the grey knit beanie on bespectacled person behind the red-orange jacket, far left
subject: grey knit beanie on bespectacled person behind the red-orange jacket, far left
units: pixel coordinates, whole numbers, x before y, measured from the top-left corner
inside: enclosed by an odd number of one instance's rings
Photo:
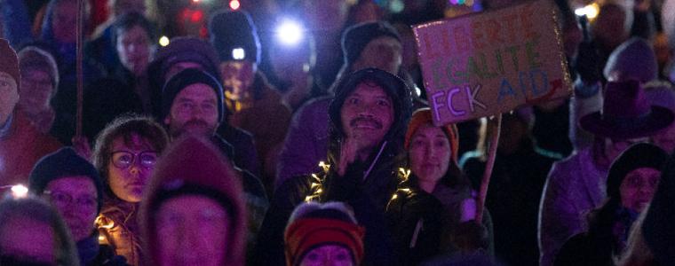
[[[56,60],[48,51],[44,51],[37,46],[27,46],[19,51],[19,68],[23,75],[28,71],[38,70],[52,79],[52,96],[56,94],[56,88],[59,87],[59,67]]]

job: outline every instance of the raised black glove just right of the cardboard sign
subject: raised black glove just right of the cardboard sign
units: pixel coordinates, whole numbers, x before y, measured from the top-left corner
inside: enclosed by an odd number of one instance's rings
[[[574,69],[584,83],[600,82],[600,54],[595,43],[581,42],[576,51]]]

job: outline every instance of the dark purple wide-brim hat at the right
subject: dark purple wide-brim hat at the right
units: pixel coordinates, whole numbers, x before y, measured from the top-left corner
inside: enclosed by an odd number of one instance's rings
[[[598,137],[649,137],[671,125],[668,108],[651,106],[638,81],[608,82],[602,110],[584,115],[579,126]]]

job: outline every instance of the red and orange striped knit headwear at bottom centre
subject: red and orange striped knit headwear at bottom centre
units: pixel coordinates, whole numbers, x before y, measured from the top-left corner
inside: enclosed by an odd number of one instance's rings
[[[355,265],[361,265],[364,235],[365,228],[354,223],[344,212],[334,208],[315,209],[292,220],[286,227],[286,265],[299,265],[309,251],[324,245],[347,248],[353,255]]]

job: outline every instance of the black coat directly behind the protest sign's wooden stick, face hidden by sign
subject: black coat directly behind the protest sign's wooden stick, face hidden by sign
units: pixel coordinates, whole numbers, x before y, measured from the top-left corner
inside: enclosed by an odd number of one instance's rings
[[[521,142],[520,148],[511,154],[497,149],[485,206],[494,223],[496,255],[504,262],[523,266],[539,264],[537,215],[553,161],[537,153],[528,140]],[[485,160],[470,158],[464,169],[473,188],[478,189]]]

